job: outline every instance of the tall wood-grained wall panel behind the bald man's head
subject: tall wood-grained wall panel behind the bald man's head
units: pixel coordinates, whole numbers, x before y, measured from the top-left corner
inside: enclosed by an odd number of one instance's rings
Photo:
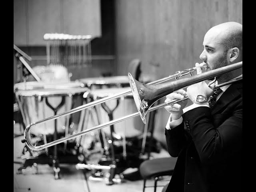
[[[228,21],[242,24],[242,0],[118,0],[117,75],[127,75],[134,58],[151,80],[191,68],[201,62],[205,33]],[[156,114],[154,136],[162,141],[168,116],[164,109]]]

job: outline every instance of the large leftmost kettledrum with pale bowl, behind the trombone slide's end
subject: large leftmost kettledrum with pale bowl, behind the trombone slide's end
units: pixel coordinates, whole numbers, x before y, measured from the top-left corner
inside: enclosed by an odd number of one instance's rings
[[[24,124],[27,126],[33,122],[54,116],[54,110],[62,103],[62,106],[56,110],[56,114],[76,108],[83,104],[83,94],[88,92],[88,88],[80,82],[70,83],[44,83],[44,82],[26,82],[14,85],[14,92],[19,106],[22,108]],[[47,105],[50,104],[50,106]],[[65,130],[70,132],[77,129],[80,112],[63,116],[57,119],[57,132],[62,133]],[[54,133],[54,120],[39,124],[30,131],[31,134],[40,136],[42,134]]]

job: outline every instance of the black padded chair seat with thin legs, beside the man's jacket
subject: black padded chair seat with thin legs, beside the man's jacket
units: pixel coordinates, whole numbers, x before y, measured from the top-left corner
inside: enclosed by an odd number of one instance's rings
[[[177,158],[165,157],[145,160],[140,164],[140,175],[144,180],[143,192],[146,187],[154,187],[156,192],[157,182],[161,176],[172,175]],[[154,178],[154,186],[146,186],[146,180]]]

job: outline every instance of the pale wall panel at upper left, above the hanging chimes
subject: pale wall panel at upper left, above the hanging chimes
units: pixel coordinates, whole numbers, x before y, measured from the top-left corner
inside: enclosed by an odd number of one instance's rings
[[[46,33],[100,37],[100,0],[14,0],[14,44],[44,46]]]

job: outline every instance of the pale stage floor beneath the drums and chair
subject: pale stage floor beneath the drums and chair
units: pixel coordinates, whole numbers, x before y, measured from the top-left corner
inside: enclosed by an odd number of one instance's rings
[[[14,138],[14,161],[21,162],[17,158],[22,151],[24,145],[20,142],[23,137],[19,136]],[[152,152],[154,158],[170,156],[166,150],[162,149],[160,153]],[[14,192],[88,192],[86,180],[82,170],[77,170],[75,164],[60,164],[61,179],[54,180],[52,167],[48,164],[38,165],[38,174],[28,173],[16,174],[20,164],[14,163]],[[166,179],[170,176],[166,177]],[[160,181],[159,185],[165,185],[168,181]],[[90,192],[142,192],[143,180],[124,180],[121,184],[113,184],[107,186],[104,182],[88,180]],[[154,185],[154,180],[148,180],[147,186]],[[161,192],[163,187],[157,187],[156,192]],[[30,189],[30,190],[28,190]],[[145,192],[153,192],[154,188],[146,188]]]

